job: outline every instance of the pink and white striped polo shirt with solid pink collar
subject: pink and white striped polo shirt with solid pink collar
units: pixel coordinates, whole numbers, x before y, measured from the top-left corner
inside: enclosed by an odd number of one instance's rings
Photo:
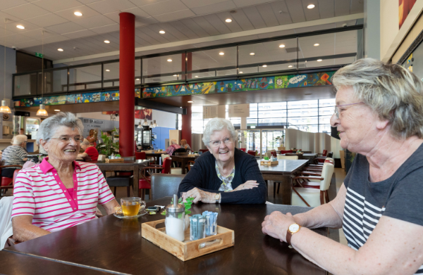
[[[70,196],[48,158],[20,170],[13,186],[12,218],[32,216],[32,224],[50,232],[97,219],[96,207],[114,199],[97,165],[73,162]]]

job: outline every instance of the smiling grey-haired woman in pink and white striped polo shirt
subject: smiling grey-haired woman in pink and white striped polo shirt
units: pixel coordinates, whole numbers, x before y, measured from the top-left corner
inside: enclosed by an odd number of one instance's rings
[[[97,165],[76,162],[84,127],[72,113],[58,113],[39,125],[37,142],[49,154],[21,170],[13,188],[13,238],[28,241],[96,219],[119,206]]]

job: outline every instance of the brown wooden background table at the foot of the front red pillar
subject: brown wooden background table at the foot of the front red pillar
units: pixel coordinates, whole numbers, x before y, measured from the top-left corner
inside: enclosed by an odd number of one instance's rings
[[[138,180],[141,178],[141,170],[148,166],[151,160],[125,160],[124,162],[106,163],[104,160],[87,161],[96,164],[103,174],[106,171],[132,171],[134,175],[134,194],[138,193]]]

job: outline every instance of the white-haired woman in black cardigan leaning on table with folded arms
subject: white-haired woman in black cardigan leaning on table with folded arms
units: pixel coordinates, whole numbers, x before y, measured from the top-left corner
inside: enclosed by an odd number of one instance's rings
[[[266,183],[252,155],[235,148],[238,135],[230,121],[210,120],[202,141],[209,151],[195,160],[179,185],[194,203],[265,203]]]

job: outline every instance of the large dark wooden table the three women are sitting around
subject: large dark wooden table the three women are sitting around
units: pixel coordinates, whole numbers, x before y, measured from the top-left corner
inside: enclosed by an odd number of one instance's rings
[[[171,197],[151,205],[168,205]],[[306,212],[310,207],[291,205],[193,205],[192,215],[219,212],[217,224],[234,231],[235,245],[188,261],[181,261],[141,236],[141,224],[164,219],[144,215],[137,219],[104,216],[78,226],[19,243],[4,251],[82,264],[123,274],[327,274],[296,250],[262,233],[262,222],[271,212]],[[158,227],[163,227],[158,226]],[[328,229],[313,229],[328,236]]]

